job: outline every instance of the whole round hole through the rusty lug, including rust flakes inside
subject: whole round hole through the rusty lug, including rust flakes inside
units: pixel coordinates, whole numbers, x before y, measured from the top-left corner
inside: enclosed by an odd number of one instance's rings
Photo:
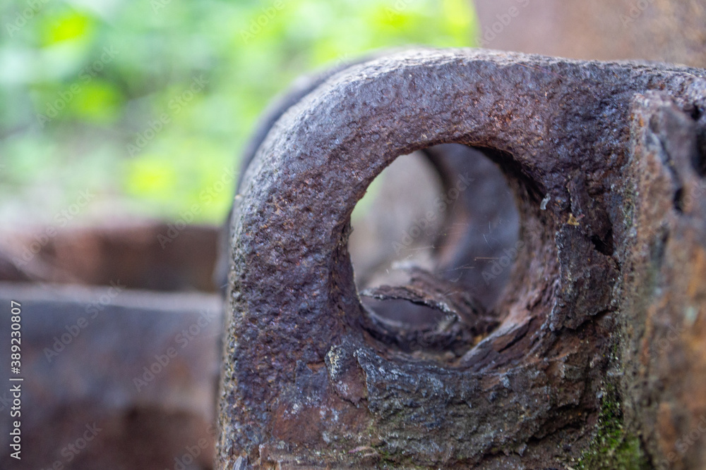
[[[453,363],[503,317],[522,247],[513,192],[462,144],[400,156],[371,187],[349,240],[366,330],[388,349]]]

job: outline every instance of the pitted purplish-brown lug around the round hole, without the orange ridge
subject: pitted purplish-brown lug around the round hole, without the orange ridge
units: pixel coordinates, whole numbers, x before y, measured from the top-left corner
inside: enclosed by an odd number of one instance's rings
[[[236,196],[217,466],[563,468],[578,459],[606,384],[635,386],[615,377],[640,341],[626,318],[644,310],[634,305],[646,284],[635,277],[633,219],[654,182],[636,170],[647,164],[641,142],[686,129],[697,136],[689,164],[700,168],[703,75],[414,50],[313,89],[277,120]],[[638,118],[654,99],[683,123]],[[347,252],[350,214],[373,178],[396,156],[444,142],[498,163],[521,221],[508,288],[488,312],[498,326],[453,357],[374,334]],[[662,161],[678,180],[685,163]],[[703,211],[688,211],[703,224]],[[690,242],[703,249],[702,238]],[[640,431],[650,421],[633,408],[626,416]]]

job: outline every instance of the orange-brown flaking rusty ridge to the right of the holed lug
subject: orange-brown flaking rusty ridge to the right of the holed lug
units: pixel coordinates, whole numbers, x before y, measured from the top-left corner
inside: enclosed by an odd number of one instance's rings
[[[633,104],[622,258],[626,415],[657,468],[706,466],[706,106]]]

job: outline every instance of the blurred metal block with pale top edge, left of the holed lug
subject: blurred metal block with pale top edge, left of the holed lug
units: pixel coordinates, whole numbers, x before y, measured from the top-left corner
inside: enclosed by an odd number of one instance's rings
[[[212,468],[216,295],[0,283],[6,312],[11,301],[22,306],[21,367],[0,364],[0,468]],[[10,338],[9,315],[0,330]]]

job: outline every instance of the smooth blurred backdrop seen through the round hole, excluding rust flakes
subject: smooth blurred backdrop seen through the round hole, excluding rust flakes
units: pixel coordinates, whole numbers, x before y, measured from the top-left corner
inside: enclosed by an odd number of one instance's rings
[[[359,292],[409,285],[422,270],[440,281],[438,292],[470,295],[487,312],[503,295],[519,247],[519,215],[505,175],[461,144],[397,158],[356,206],[352,226]],[[361,301],[378,318],[407,328],[427,330],[449,317],[406,299]]]

